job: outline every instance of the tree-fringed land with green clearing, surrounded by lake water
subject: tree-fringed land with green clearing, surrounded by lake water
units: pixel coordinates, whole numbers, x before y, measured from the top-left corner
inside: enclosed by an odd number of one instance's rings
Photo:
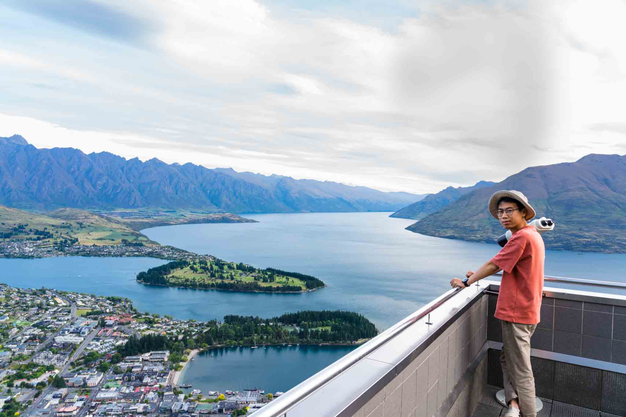
[[[267,293],[300,293],[326,286],[314,276],[213,257],[172,261],[140,272],[136,279],[149,285]]]

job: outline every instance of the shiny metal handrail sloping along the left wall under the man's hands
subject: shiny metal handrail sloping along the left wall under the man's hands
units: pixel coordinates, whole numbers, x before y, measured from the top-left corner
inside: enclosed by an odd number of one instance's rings
[[[290,409],[294,408],[297,404],[310,396],[310,394],[322,388],[322,386],[332,381],[332,379],[339,376],[339,374],[346,371],[346,369],[350,368],[352,365],[361,361],[361,359],[380,348],[383,344],[401,334],[404,330],[419,321],[419,319],[424,318],[424,316],[431,313],[434,309],[438,308],[441,304],[445,303],[460,292],[461,288],[449,289],[448,292],[439,296],[439,298],[434,299],[431,303],[426,304],[426,306],[409,315],[404,320],[394,324],[391,328],[383,331],[381,334],[372,338],[359,348],[354,349],[354,351],[346,354],[346,356],[341,359],[331,363],[329,366],[314,374],[310,378],[305,379],[301,383],[294,386],[294,388],[289,389],[289,391],[282,394],[279,398],[276,398],[269,404],[263,406],[263,408],[258,409],[254,412],[255,417],[286,417],[287,412]]]

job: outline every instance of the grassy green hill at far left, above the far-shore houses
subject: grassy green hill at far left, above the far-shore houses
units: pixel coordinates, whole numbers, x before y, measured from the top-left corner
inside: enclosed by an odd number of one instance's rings
[[[60,209],[36,214],[0,206],[2,241],[29,239],[43,246],[54,243],[79,243],[98,246],[129,243],[158,244],[115,219],[79,209]]]

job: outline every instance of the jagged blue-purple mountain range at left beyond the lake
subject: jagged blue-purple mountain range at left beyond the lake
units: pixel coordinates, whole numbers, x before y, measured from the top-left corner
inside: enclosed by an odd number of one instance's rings
[[[38,149],[0,138],[0,204],[23,209],[202,208],[230,213],[396,211],[421,196],[329,181]],[[268,179],[271,178],[271,181]]]

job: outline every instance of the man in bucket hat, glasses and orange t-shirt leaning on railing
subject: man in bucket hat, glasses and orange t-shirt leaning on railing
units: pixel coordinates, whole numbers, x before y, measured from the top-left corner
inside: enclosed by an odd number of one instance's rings
[[[495,317],[502,326],[500,363],[504,374],[505,417],[536,417],[535,378],[530,366],[530,337],[539,323],[543,293],[543,239],[526,221],[535,210],[520,191],[498,191],[489,199],[489,211],[513,233],[501,251],[481,266],[468,271],[463,280],[453,278],[451,286],[465,288],[479,279],[504,271]]]

